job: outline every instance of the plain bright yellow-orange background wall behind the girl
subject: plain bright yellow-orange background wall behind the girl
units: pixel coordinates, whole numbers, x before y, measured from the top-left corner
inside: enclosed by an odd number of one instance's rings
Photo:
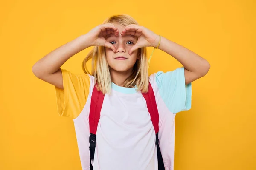
[[[58,116],[54,86],[31,68],[112,14],[131,15],[211,64],[192,83],[192,109],[176,116],[175,170],[255,170],[255,7],[255,0],[1,2],[0,170],[81,170],[73,120]],[[88,51],[62,68],[82,73]],[[156,50],[149,72],[180,66]]]

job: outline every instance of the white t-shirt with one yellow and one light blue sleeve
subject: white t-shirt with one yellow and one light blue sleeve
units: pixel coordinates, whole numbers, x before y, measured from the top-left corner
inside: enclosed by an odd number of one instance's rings
[[[83,170],[90,170],[89,113],[94,77],[61,69],[64,89],[55,87],[58,113],[74,121]],[[166,170],[174,167],[175,115],[191,108],[192,86],[184,67],[149,76],[159,112],[159,146]],[[96,133],[93,170],[157,170],[155,131],[146,101],[135,88],[111,83]]]

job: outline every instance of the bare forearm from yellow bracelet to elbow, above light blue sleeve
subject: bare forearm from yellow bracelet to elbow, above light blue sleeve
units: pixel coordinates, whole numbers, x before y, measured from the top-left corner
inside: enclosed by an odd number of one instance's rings
[[[177,59],[188,71],[202,75],[209,71],[210,65],[206,59],[165,37],[161,37],[158,48]]]

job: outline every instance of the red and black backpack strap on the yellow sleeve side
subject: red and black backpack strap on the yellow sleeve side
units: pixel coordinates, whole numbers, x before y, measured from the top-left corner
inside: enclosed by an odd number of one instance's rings
[[[90,137],[89,137],[89,150],[90,150],[90,170],[93,170],[93,160],[96,146],[96,132],[99,123],[100,111],[102,109],[102,103],[105,94],[98,91],[96,86],[93,88],[93,94],[90,104],[90,114],[89,114],[89,126],[90,126]]]

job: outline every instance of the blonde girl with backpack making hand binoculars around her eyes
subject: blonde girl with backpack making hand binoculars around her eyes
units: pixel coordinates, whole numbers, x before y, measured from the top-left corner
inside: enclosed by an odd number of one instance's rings
[[[60,68],[90,46],[85,74]],[[184,67],[148,77],[146,47],[165,51]],[[209,68],[192,51],[116,15],[50,52],[32,71],[55,85],[58,113],[73,119],[83,170],[173,170],[175,115],[191,108],[191,82]]]

